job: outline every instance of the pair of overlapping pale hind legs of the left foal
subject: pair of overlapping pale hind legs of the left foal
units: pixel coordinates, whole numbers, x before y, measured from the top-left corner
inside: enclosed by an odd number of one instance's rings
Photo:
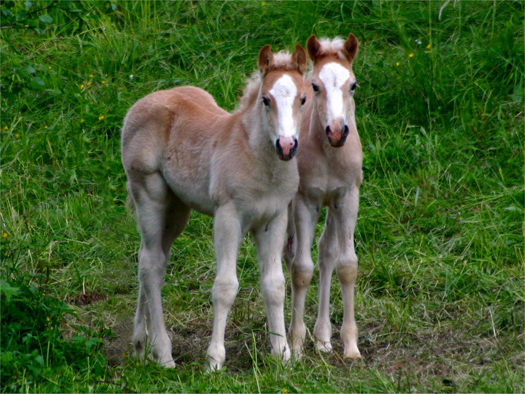
[[[159,364],[174,367],[171,342],[162,314],[161,288],[173,240],[184,229],[190,209],[169,190],[158,173],[135,175],[130,187],[141,232],[139,249],[139,303],[133,344],[144,355],[146,327],[151,352]]]

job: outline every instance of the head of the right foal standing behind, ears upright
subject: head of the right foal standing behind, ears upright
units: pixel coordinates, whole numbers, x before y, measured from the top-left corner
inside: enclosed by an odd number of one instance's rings
[[[358,87],[352,60],[358,51],[353,34],[342,39],[308,39],[308,55],[313,61],[311,82],[314,108],[332,147],[342,147],[350,131],[355,131],[353,95]]]

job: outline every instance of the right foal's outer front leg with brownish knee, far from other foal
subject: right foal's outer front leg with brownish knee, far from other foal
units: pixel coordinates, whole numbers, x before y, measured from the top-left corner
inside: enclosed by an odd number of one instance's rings
[[[361,358],[358,349],[358,328],[354,316],[354,287],[358,273],[358,258],[354,250],[354,230],[359,207],[359,189],[352,188],[345,194],[342,204],[340,253],[336,262],[337,275],[343,298],[343,324],[341,340],[344,358]]]

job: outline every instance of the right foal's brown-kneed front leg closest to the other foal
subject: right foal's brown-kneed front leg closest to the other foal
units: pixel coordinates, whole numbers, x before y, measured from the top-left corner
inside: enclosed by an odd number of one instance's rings
[[[313,275],[311,247],[321,205],[320,202],[308,200],[301,193],[296,195],[294,205],[297,250],[291,267],[288,268],[292,283],[289,335],[293,353],[296,358],[300,358],[306,337],[306,326],[303,322],[304,301]]]

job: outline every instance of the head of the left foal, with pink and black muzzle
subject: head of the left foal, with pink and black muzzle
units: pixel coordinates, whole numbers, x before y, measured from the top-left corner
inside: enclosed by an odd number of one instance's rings
[[[257,105],[264,106],[265,129],[281,160],[290,160],[297,152],[300,110],[306,101],[306,67],[306,51],[300,45],[291,56],[274,56],[269,45],[259,52],[262,84]]]

